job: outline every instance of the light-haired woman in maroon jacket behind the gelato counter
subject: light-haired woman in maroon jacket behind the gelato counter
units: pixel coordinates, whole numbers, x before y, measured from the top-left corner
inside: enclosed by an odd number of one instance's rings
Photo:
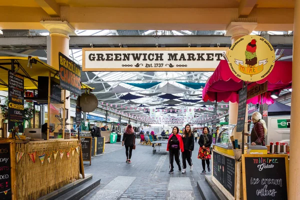
[[[259,112],[253,112],[251,118],[254,123],[254,127],[252,128],[250,135],[251,145],[265,146],[264,138],[267,132],[265,121],[262,119]]]

